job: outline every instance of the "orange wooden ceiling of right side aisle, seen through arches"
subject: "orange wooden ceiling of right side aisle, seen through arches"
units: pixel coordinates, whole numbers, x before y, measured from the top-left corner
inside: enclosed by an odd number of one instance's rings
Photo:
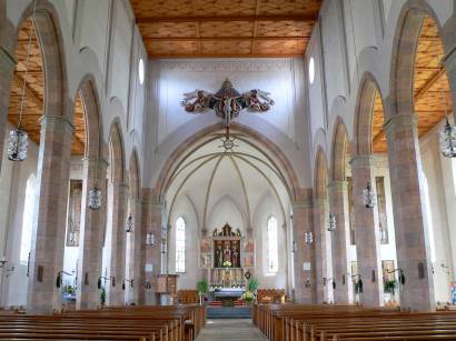
[[[423,21],[415,56],[414,94],[419,137],[426,134],[445,118],[445,108],[448,112],[453,111],[448,79],[445,69],[440,68],[443,57],[442,38],[434,20],[428,17]],[[374,100],[374,152],[387,151],[383,124],[384,111],[377,92]]]

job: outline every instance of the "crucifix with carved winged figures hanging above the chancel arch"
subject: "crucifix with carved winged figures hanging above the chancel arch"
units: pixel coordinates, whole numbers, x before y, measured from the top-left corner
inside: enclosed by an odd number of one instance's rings
[[[208,109],[212,109],[216,116],[225,121],[226,133],[222,147],[229,151],[235,147],[235,139],[229,133],[232,119],[236,119],[244,109],[254,112],[268,111],[274,106],[274,100],[269,94],[269,92],[259,89],[239,93],[226,79],[216,93],[199,89],[184,93],[184,100],[180,104],[189,113],[204,113]]]

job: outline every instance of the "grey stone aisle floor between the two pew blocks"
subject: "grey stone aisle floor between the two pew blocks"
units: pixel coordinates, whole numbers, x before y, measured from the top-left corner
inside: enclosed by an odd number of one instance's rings
[[[267,340],[247,319],[208,320],[196,341],[262,341]]]

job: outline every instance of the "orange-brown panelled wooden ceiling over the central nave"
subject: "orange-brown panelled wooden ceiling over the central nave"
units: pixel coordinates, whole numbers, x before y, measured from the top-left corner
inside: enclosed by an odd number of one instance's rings
[[[131,0],[149,58],[301,57],[323,0]]]

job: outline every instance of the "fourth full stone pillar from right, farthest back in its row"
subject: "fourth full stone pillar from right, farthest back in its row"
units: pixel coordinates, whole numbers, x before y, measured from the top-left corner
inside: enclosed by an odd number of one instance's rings
[[[331,277],[330,271],[330,235],[327,232],[328,215],[327,199],[314,200],[314,248],[315,248],[315,275],[317,280],[317,303],[329,302],[331,300],[333,287],[326,283],[326,279]]]

